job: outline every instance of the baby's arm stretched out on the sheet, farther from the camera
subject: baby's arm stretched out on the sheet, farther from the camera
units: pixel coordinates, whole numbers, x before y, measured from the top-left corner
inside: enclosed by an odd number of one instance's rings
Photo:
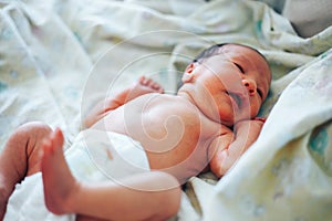
[[[125,103],[148,93],[164,93],[164,88],[152,78],[141,76],[139,80],[128,88],[120,92],[113,97],[107,97],[96,104],[84,120],[84,127],[89,128],[103,118],[108,112],[116,109]]]

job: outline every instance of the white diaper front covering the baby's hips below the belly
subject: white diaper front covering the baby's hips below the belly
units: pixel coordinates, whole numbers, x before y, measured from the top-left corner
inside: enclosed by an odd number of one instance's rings
[[[114,180],[149,171],[144,148],[122,134],[86,129],[79,134],[65,157],[80,180]]]

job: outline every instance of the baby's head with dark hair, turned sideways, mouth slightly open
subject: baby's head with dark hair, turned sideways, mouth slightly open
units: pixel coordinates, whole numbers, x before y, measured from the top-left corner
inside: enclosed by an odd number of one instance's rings
[[[186,69],[179,92],[209,118],[226,124],[257,116],[268,95],[271,71],[257,50],[240,44],[216,44]]]

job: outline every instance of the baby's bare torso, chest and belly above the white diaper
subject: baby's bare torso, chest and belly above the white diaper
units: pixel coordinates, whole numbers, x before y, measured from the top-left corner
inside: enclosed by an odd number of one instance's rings
[[[152,169],[185,181],[209,162],[208,148],[218,136],[226,143],[231,130],[210,120],[181,96],[149,93],[121,106],[92,128],[116,131],[139,140]]]

